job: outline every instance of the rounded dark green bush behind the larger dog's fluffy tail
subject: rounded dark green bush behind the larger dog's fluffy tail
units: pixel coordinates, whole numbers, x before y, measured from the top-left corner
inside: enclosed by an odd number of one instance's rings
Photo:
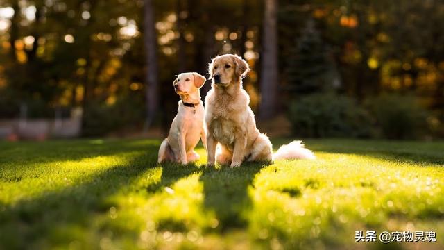
[[[289,108],[293,133],[304,137],[356,137],[373,135],[370,115],[350,97],[312,94],[293,101]]]

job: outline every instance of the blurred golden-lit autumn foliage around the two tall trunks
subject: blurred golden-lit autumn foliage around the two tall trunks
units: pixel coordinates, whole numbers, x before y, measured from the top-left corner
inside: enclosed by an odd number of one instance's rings
[[[85,110],[84,118],[96,119],[88,113],[106,113],[108,97],[123,99],[132,91],[142,99],[146,92],[128,87],[146,79],[144,1],[50,2],[1,1],[1,7],[14,8],[15,15],[1,17],[6,21],[3,24],[11,25],[0,33],[0,117],[17,117],[21,103],[37,103],[33,111],[30,107],[35,117],[51,115],[48,110],[54,106],[87,108],[87,103],[95,103],[95,110]],[[30,6],[36,10],[33,20],[23,15]],[[279,1],[280,79],[275,84],[283,83],[277,86],[283,90],[280,94],[323,92],[332,83],[341,83],[334,87],[362,101],[387,90],[409,90],[441,112],[442,6],[441,1],[422,0]],[[153,1],[153,8],[160,112],[176,103],[173,76],[182,71],[205,74],[210,58],[218,53],[254,56],[248,60],[254,71],[245,86],[257,88],[261,75],[261,55],[257,55],[266,50],[260,35],[263,1],[165,0]],[[133,35],[121,33],[125,30]],[[65,35],[74,40],[67,42]],[[118,92],[114,92],[116,84]],[[203,96],[209,86],[203,88]],[[282,98],[288,101],[287,96]],[[121,112],[133,113],[134,107],[128,108]]]

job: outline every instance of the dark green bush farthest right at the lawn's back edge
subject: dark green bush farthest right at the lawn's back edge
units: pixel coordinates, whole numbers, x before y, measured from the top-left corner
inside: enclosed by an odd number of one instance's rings
[[[399,94],[383,94],[368,100],[382,135],[388,139],[415,139],[428,132],[427,110],[418,98]]]

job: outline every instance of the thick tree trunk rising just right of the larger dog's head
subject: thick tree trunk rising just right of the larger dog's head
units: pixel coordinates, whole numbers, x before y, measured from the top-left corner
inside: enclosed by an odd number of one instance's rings
[[[278,0],[264,0],[262,33],[262,70],[260,78],[261,103],[259,117],[269,119],[276,113],[278,78]]]

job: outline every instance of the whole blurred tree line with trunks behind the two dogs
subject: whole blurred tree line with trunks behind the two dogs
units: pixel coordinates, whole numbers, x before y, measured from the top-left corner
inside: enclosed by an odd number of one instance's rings
[[[168,128],[175,75],[237,53],[262,119],[288,111],[298,135],[369,137],[376,124],[409,138],[383,117],[442,129],[443,19],[438,0],[0,0],[0,117],[82,107],[85,135]]]

